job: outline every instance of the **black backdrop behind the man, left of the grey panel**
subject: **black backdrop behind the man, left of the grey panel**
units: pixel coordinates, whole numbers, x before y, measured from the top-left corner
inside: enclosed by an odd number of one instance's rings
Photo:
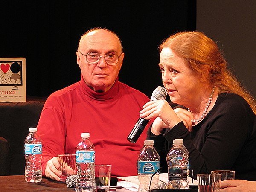
[[[196,0],[2,0],[0,10],[0,57],[26,58],[28,98],[80,80],[75,52],[93,27],[119,35],[125,52],[119,81],[150,97],[162,85],[161,41],[196,29]]]

